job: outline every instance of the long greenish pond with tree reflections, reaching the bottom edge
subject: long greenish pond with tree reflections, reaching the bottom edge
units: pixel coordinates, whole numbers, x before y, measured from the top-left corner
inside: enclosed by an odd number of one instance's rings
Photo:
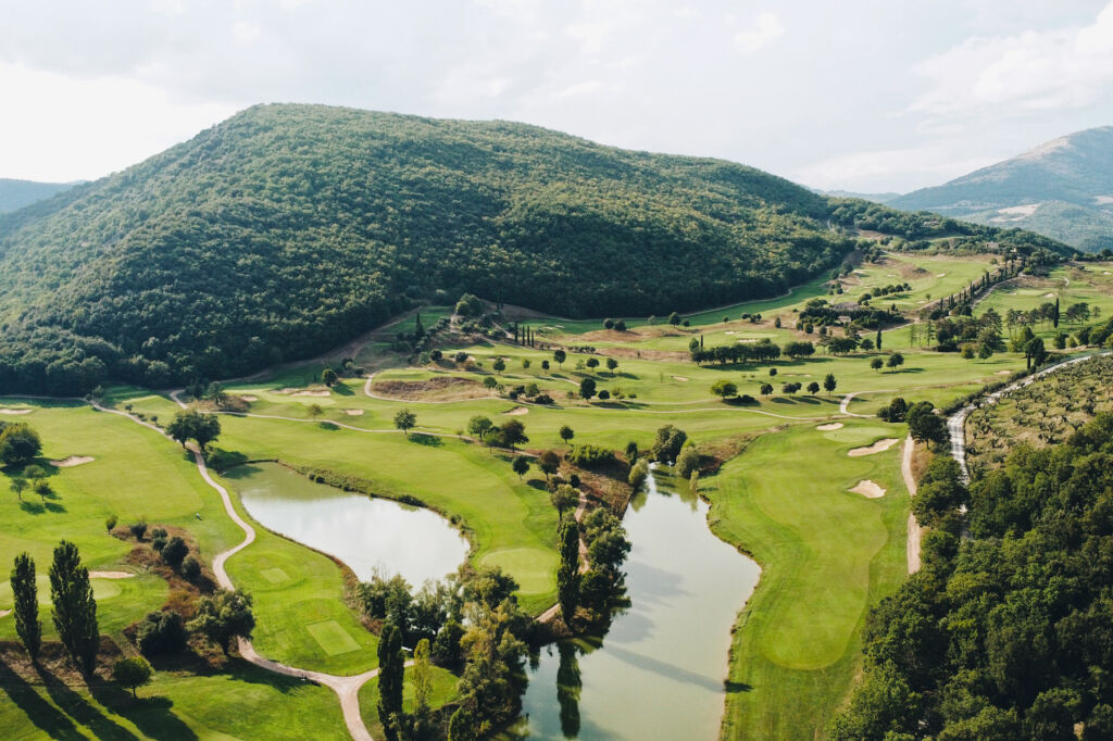
[[[511,738],[719,738],[730,628],[761,570],[711,534],[705,502],[658,477],[623,521],[630,607],[598,648],[542,649]]]

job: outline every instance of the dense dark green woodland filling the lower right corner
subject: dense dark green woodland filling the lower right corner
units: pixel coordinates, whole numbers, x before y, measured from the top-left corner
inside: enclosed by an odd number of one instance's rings
[[[1018,446],[968,491],[933,462],[916,497],[927,490],[918,516],[934,525],[923,567],[870,612],[833,738],[1113,738],[1111,471],[1111,415]]]

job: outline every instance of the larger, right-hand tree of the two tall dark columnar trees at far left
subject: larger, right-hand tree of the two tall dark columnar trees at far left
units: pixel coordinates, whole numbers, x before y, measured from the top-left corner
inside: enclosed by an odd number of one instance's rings
[[[55,606],[55,630],[66,651],[89,675],[97,665],[100,630],[97,602],[92,597],[89,570],[81,565],[77,546],[62,541],[50,565],[50,601]]]

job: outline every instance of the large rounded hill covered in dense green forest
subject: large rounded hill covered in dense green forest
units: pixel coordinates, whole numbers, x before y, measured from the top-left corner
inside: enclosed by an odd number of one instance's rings
[[[855,248],[830,211],[721,160],[258,106],[0,215],[0,389],[228,377],[465,290],[578,317],[770,296]]]

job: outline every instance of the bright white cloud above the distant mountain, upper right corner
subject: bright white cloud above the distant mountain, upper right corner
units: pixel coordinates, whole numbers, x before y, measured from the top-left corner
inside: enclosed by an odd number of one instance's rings
[[[1090,106],[1113,89],[1113,3],[1082,27],[967,39],[915,71],[930,88],[909,110],[932,117]]]

